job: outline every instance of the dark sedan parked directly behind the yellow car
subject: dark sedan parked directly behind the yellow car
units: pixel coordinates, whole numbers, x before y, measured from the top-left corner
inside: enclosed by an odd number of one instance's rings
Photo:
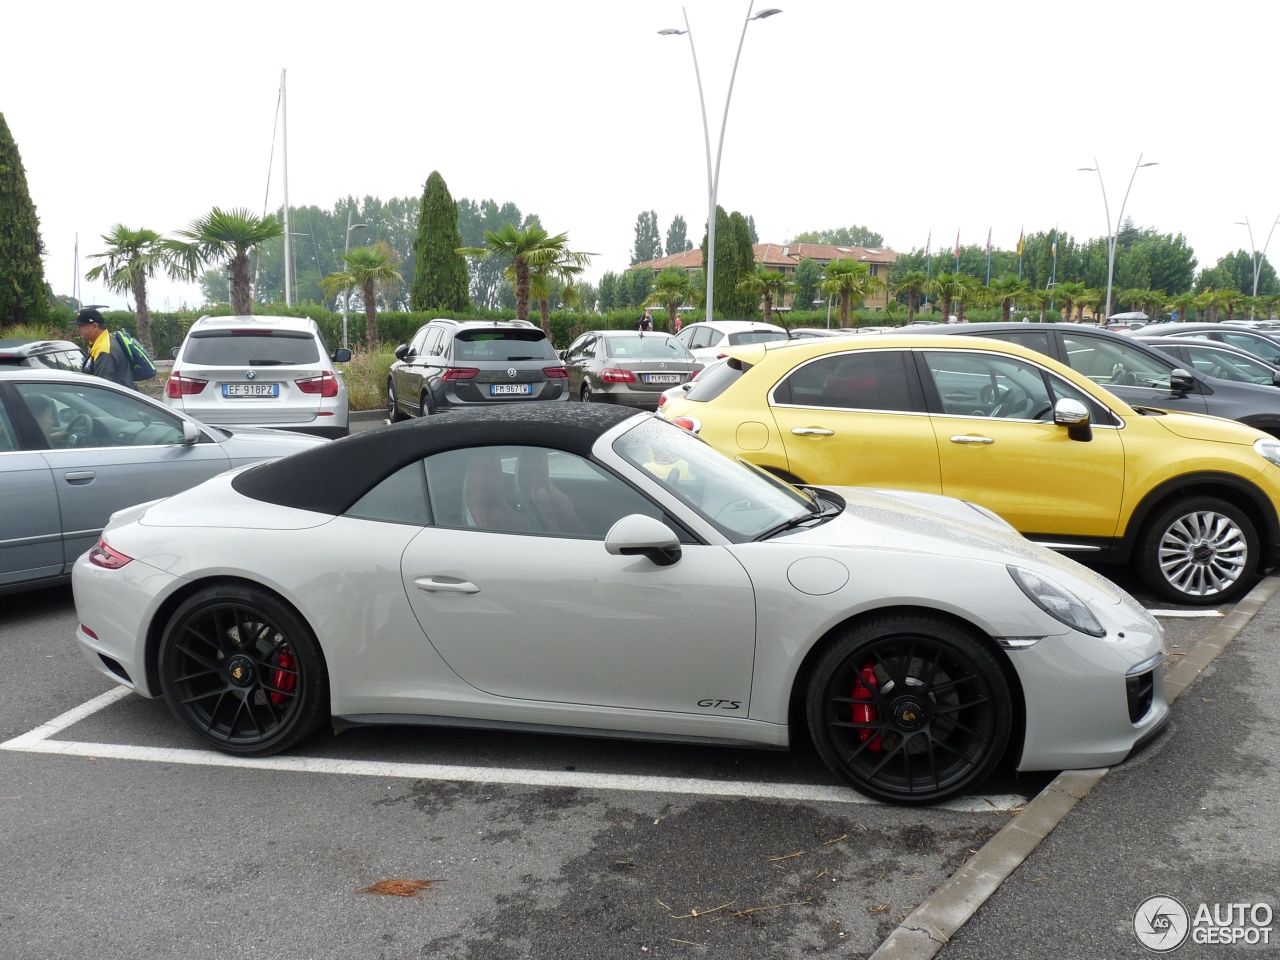
[[[1130,406],[1210,413],[1280,438],[1275,387],[1207,378],[1132,334],[1080,324],[950,324],[925,330],[1018,343],[1078,370]]]

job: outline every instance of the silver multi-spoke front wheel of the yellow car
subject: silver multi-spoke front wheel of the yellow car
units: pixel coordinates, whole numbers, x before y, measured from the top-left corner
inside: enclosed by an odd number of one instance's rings
[[[1257,527],[1243,509],[1216,497],[1187,497],[1147,521],[1134,559],[1161,596],[1206,605],[1248,590],[1260,552]]]

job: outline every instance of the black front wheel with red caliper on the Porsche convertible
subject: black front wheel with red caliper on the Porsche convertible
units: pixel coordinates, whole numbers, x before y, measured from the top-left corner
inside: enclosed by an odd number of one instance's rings
[[[927,614],[850,630],[814,668],[809,731],[860,794],[931,804],[975,787],[1009,744],[1012,695],[988,648]]]

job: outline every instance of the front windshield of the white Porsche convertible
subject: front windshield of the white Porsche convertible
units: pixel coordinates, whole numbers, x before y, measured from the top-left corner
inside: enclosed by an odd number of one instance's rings
[[[637,424],[614,440],[613,449],[658,477],[735,541],[815,513],[814,504],[795,488],[663,420]]]

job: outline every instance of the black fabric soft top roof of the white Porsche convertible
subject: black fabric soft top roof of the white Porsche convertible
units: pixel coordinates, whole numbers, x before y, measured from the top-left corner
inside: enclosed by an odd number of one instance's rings
[[[352,434],[232,480],[255,500],[338,516],[406,463],[440,451],[481,444],[529,444],[589,457],[600,434],[636,415],[628,407],[522,403],[436,413]]]

